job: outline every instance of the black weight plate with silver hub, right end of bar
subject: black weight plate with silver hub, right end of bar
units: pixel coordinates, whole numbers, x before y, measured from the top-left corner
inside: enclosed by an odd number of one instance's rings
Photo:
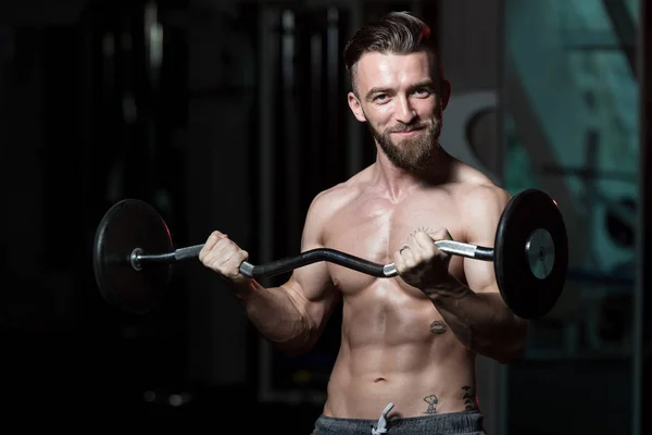
[[[526,250],[537,229],[548,232],[554,246],[552,270],[543,278],[532,272]],[[496,278],[510,309],[523,319],[550,312],[562,295],[568,270],[566,225],[556,202],[538,189],[516,194],[502,213],[493,246]]]

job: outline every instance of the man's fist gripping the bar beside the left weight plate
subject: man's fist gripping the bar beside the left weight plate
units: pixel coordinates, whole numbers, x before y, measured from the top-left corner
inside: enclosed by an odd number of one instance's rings
[[[247,251],[240,249],[226,234],[218,231],[214,231],[209,236],[199,252],[199,261],[203,265],[217,272],[234,284],[241,284],[248,281],[240,273],[240,264],[248,258],[249,253]]]

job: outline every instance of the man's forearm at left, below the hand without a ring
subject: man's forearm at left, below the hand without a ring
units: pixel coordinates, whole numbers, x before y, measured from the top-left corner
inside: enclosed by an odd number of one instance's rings
[[[264,338],[288,353],[310,348],[313,328],[287,288],[265,288],[255,279],[248,279],[235,285],[234,290],[249,321]]]

